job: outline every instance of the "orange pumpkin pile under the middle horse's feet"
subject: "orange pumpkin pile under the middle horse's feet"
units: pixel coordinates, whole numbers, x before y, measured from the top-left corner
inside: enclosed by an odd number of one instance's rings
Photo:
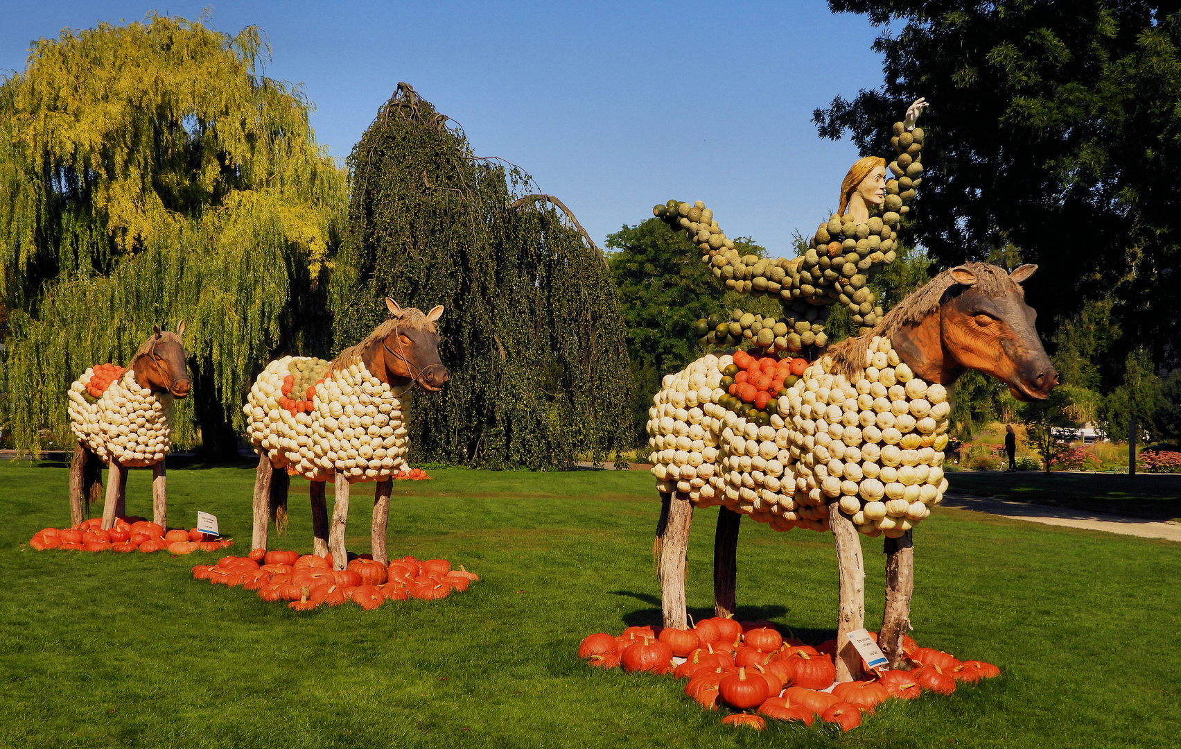
[[[370,611],[391,599],[438,600],[479,580],[462,566],[452,569],[445,559],[403,556],[383,565],[361,554],[346,569],[333,569],[332,554],[325,558],[261,548],[249,556],[223,556],[216,565],[197,565],[193,578],[256,591],[262,600],[287,601],[295,611],[346,601]]]

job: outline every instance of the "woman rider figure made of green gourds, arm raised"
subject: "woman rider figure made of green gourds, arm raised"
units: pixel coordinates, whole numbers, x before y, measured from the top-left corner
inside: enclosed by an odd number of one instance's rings
[[[820,224],[809,249],[798,258],[739,255],[700,201],[693,206],[668,201],[653,208],[658,217],[686,232],[726,288],[775,294],[783,305],[779,320],[735,311],[732,321],[709,332],[709,343],[733,345],[746,338],[769,353],[790,351],[811,359],[828,346],[824,323],[834,302],[849,310],[861,332],[881,319],[882,310],[866,282],[894,261],[898,223],[922,182],[924,132],[915,123],[926,106],[926,99],[916,99],[903,121],[894,123],[890,143],[898,155],[893,162],[867,156],[853,164],[841,184],[837,213]]]

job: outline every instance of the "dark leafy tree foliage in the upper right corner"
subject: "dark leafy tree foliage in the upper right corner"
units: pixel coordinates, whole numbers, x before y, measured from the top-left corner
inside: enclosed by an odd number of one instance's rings
[[[931,103],[914,239],[941,266],[1010,242],[1042,266],[1029,297],[1070,314],[1115,291],[1123,351],[1175,357],[1181,313],[1181,11],[1133,0],[829,0],[890,24],[880,89],[816,112],[881,152],[893,113]],[[1174,345],[1170,347],[1169,343]]]

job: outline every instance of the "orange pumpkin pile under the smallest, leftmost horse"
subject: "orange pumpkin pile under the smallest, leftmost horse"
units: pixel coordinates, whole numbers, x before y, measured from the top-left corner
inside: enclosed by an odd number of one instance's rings
[[[196,528],[175,528],[164,532],[148,520],[116,517],[110,530],[103,530],[103,519],[91,517],[70,528],[43,528],[33,534],[28,545],[41,552],[57,548],[74,552],[216,552],[234,543],[233,539],[216,539]]]

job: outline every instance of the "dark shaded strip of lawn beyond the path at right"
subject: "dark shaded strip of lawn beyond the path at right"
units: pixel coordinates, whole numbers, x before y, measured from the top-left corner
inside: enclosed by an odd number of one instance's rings
[[[1105,513],[1174,520],[1181,517],[1181,475],[1084,474],[999,470],[947,474],[950,491],[988,496],[1010,502],[1069,507]]]

